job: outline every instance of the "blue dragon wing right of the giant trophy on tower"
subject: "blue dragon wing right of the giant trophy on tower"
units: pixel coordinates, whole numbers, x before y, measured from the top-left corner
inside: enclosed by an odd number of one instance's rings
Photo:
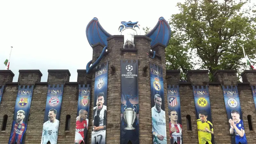
[[[160,17],[156,26],[146,36],[151,38],[151,46],[157,43],[167,46],[171,38],[171,28],[164,17]]]

